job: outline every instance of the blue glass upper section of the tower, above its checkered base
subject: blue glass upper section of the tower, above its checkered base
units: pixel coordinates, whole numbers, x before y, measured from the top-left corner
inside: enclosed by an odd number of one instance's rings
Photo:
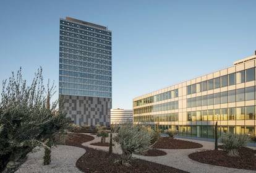
[[[111,61],[111,32],[106,27],[60,20],[60,95],[111,98]]]

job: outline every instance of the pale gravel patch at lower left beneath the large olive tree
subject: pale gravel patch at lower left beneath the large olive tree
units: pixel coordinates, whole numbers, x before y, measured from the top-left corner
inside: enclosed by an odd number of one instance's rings
[[[67,145],[58,145],[51,151],[51,164],[43,165],[45,150],[36,147],[33,153],[27,154],[27,161],[16,171],[16,173],[58,173],[74,172],[80,173],[75,162],[85,153],[83,148]]]

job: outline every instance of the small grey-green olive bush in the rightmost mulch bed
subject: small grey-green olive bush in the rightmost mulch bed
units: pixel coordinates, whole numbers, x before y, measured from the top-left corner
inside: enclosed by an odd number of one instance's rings
[[[239,156],[238,148],[245,146],[250,141],[248,135],[223,133],[221,135],[221,142],[224,150],[228,151],[229,156]]]

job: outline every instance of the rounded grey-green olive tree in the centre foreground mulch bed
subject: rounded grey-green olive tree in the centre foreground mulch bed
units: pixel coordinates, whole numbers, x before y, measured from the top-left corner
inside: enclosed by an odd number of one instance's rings
[[[147,128],[125,123],[116,125],[114,129],[118,131],[113,140],[119,143],[122,150],[121,159],[116,162],[130,166],[132,154],[145,154],[150,149],[152,135]]]

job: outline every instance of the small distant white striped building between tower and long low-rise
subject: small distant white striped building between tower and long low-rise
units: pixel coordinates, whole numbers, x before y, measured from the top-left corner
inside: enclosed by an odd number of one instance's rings
[[[111,109],[110,121],[111,124],[122,124],[125,122],[132,122],[132,110],[128,109]]]

